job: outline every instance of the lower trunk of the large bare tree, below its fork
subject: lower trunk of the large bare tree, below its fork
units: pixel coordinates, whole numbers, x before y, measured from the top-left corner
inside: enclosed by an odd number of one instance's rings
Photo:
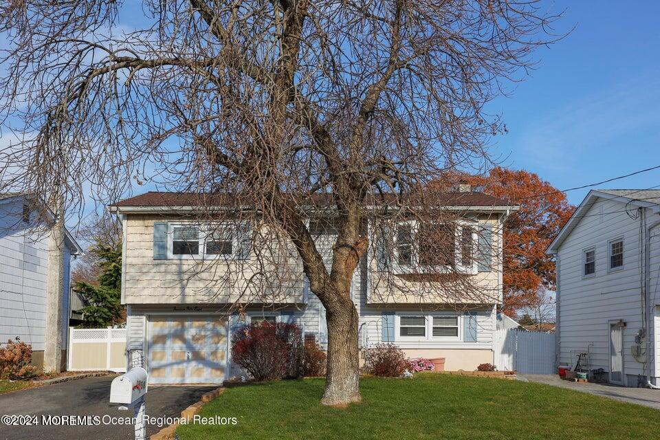
[[[327,307],[328,361],[324,405],[345,406],[360,397],[360,353],[358,350],[358,311],[350,298],[342,305]]]

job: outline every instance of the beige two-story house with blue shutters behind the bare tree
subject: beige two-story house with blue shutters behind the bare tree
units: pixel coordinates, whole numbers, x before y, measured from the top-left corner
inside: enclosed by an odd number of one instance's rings
[[[206,206],[211,201],[218,210],[226,201],[213,195],[203,198]],[[231,335],[250,322],[294,322],[306,339],[326,347],[325,309],[309,292],[297,255],[268,265],[279,285],[269,285],[272,279],[267,278],[250,291],[250,283],[258,278],[250,262],[269,242],[257,243],[261,230],[244,223],[219,235],[213,232],[209,239],[203,232],[205,225],[196,218],[200,199],[186,193],[147,192],[111,206],[123,228],[126,347],[142,354],[150,382],[228,379],[236,374],[230,360]],[[461,252],[473,246],[480,250],[478,263],[463,267],[463,278],[473,279],[489,299],[443,305],[437,298],[393,292],[384,278],[393,267],[415,259],[410,249],[419,245],[401,238],[394,249],[381,245],[364,256],[353,276],[351,298],[360,316],[362,348],[391,342],[409,357],[445,358],[445,369],[474,370],[478,364],[493,362],[496,307],[502,302],[502,223],[516,207],[479,192],[450,193],[442,200],[442,209],[462,219],[452,228],[454,257],[464,258]],[[329,264],[336,234],[332,222],[317,211],[309,216],[309,230]],[[410,232],[410,227],[410,221],[401,222],[396,232],[389,233],[397,236],[406,228]],[[373,243],[384,243],[373,225],[366,225],[366,230]],[[212,270],[204,270],[209,261],[215,263]],[[414,292],[414,280],[395,278]],[[244,313],[233,312],[236,306],[244,307]]]

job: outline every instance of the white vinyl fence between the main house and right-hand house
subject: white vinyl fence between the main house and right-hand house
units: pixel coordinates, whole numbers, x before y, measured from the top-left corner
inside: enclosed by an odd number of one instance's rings
[[[528,374],[554,374],[555,334],[501,329],[495,331],[495,366]]]

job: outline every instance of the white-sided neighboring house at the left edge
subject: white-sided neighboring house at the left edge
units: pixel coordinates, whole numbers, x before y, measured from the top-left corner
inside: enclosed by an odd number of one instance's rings
[[[46,279],[48,272],[48,233],[35,224],[37,213],[32,197],[20,194],[0,195],[0,343],[17,336],[32,345],[32,363],[43,366],[46,314]],[[67,232],[65,236],[62,347],[69,335],[69,280],[71,258],[82,250]],[[63,353],[63,360],[66,355]]]

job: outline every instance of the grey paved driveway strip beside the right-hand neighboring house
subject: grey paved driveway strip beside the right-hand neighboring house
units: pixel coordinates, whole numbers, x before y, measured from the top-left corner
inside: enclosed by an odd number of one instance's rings
[[[525,374],[522,375],[522,377],[525,377],[531,382],[540,382],[541,384],[570,388],[571,390],[580,391],[582,393],[608,397],[609,399],[625,401],[629,404],[650,406],[651,408],[660,410],[660,390],[652,390],[650,388],[627,388],[625,386],[612,384],[568,382],[566,380],[561,380],[558,375]]]

